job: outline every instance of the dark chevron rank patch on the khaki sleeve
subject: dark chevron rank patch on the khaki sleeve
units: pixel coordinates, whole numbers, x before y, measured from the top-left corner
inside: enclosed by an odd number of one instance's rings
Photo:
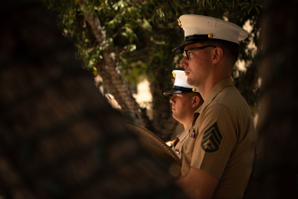
[[[221,147],[223,139],[224,135],[219,130],[217,122],[215,122],[204,132],[201,147],[209,153],[217,152]]]

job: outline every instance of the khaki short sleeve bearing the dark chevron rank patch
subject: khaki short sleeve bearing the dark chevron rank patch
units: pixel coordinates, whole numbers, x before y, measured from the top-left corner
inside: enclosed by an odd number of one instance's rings
[[[202,169],[220,179],[238,139],[235,113],[221,104],[206,107],[193,126],[194,140],[190,166]]]

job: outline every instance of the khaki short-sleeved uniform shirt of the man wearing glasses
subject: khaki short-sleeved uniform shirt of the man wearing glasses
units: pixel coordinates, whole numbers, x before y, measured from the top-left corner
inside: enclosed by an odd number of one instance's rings
[[[192,128],[181,145],[180,178],[190,167],[219,179],[212,198],[242,198],[254,158],[255,130],[245,99],[231,78],[218,82],[194,113]]]

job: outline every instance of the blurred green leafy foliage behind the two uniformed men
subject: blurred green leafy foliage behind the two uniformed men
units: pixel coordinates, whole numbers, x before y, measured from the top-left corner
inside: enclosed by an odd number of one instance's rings
[[[260,90],[257,84],[257,51],[250,47],[259,39],[257,19],[262,6],[256,0],[40,1],[46,4],[65,35],[76,44],[77,57],[84,67],[96,73],[93,67],[104,61],[103,51],[107,46],[113,47],[118,69],[126,82],[136,84],[148,78],[155,108],[164,101],[162,92],[173,85],[171,71],[183,70],[179,67],[183,55],[171,52],[184,38],[177,22],[179,15],[212,16],[229,20],[240,27],[249,23],[252,26],[249,38],[240,42],[239,60],[244,63],[244,69],[239,70],[236,65],[232,76],[249,105],[257,107]],[[105,31],[106,40],[102,44],[96,41],[86,22],[89,16],[94,16]]]

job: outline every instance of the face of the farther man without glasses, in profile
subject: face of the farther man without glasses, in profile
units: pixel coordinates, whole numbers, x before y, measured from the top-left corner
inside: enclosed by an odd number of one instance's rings
[[[189,120],[189,117],[193,117],[191,93],[185,94],[173,94],[170,102],[172,103],[173,118],[183,123]]]

